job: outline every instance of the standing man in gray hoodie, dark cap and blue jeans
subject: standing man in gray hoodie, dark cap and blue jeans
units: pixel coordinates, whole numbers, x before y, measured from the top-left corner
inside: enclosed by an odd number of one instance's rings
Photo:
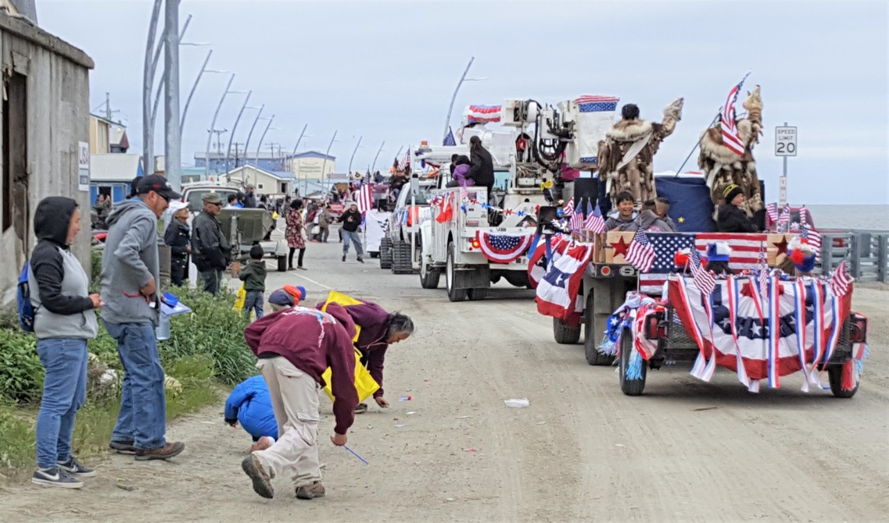
[[[124,367],[120,413],[110,447],[137,460],[168,459],[185,445],[168,443],[164,368],[155,328],[160,310],[157,219],[177,194],[163,176],[141,178],[135,197],[108,215],[102,255],[102,319]]]

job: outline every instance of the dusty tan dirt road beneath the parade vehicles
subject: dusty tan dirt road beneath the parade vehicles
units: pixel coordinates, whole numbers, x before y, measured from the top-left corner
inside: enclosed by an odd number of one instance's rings
[[[280,479],[262,499],[239,466],[250,439],[220,405],[172,425],[188,445],[172,463],[111,455],[79,492],[5,487],[0,521],[889,520],[885,292],[856,291],[872,353],[851,400],[795,379],[751,395],[733,374],[708,384],[687,369],[652,372],[629,398],[613,368],[553,342],[532,292],[451,303],[375,260],[342,263],[339,249],[309,244],[309,270],[270,273],[268,288],[301,284],[312,302],[336,288],[415,319],[419,332],[389,350],[392,407],[372,406],[349,434],[370,465],[323,444],[326,498],[296,500]]]

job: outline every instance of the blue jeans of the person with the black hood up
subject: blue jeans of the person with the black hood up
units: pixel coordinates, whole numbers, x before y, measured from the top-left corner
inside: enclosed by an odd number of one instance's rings
[[[46,369],[44,397],[37,413],[37,466],[41,469],[71,457],[74,418],[86,399],[86,340],[37,340],[37,356]]]

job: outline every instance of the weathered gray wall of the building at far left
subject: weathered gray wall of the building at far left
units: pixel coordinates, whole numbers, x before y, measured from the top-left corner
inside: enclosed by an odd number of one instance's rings
[[[76,47],[0,12],[0,65],[4,79],[13,72],[25,76],[22,114],[27,121],[25,133],[21,133],[22,125],[10,129],[20,138],[23,134],[27,154],[22,167],[12,173],[13,225],[0,231],[0,305],[4,305],[15,300],[19,272],[36,241],[34,210],[44,197],[73,197],[81,205],[82,230],[72,251],[89,274],[90,193],[77,188],[77,157],[78,142],[90,139],[89,70],[93,63]],[[7,137],[2,138],[0,148],[7,143]],[[0,155],[0,167],[3,161]],[[5,201],[0,200],[0,211],[6,209]]]

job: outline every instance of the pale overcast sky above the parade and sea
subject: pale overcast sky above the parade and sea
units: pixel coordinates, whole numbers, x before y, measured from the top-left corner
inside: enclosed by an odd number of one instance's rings
[[[36,4],[42,28],[95,60],[91,109],[100,112],[111,93],[131,151],[140,152],[152,2]],[[744,87],[762,86],[765,136],[754,154],[767,200],[777,199],[781,174],[774,126],[786,121],[799,128],[788,167],[791,203],[889,203],[886,2],[182,0],[180,20],[188,14],[184,40],[212,45],[181,48],[183,103],[212,48],[209,68],[236,73],[232,89],[252,89],[251,105],[264,103],[263,114],[275,115],[263,149],[275,142],[292,151],[308,124],[300,150],[324,151],[337,130],[331,154],[339,172],[359,136],[353,170],[367,168],[382,141],[378,169],[400,146],[440,142],[470,56],[469,76],[487,79],[463,84],[452,125],[469,103],[507,98],[556,103],[613,94],[660,120],[669,101],[685,97],[683,120],[661,146],[655,171],[682,164],[729,89],[752,70]],[[206,74],[197,89],[182,137],[187,164],[204,151],[227,81]],[[218,129],[231,129],[243,101],[244,94],[229,95]],[[255,114],[245,112],[236,141],[246,139]],[[156,129],[163,136],[162,122]],[[163,140],[156,152],[163,154]],[[684,170],[697,168],[695,158]]]

